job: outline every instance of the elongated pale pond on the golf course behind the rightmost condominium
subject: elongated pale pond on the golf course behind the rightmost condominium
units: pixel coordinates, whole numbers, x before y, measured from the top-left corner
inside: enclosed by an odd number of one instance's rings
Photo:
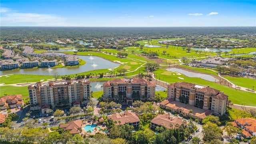
[[[200,74],[200,73],[195,73],[195,72],[189,72],[187,70],[182,70],[178,68],[167,68],[166,70],[173,71],[173,72],[179,72],[181,74],[184,74],[185,76],[188,77],[193,77],[193,78],[202,78],[204,80],[208,80],[211,82],[218,82],[219,80],[214,78],[213,76],[210,76],[208,74]]]

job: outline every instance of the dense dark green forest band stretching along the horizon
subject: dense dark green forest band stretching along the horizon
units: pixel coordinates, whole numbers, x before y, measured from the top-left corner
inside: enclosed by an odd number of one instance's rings
[[[58,38],[176,38],[191,35],[233,35],[255,34],[256,27],[0,27],[0,41],[6,40],[48,40]]]

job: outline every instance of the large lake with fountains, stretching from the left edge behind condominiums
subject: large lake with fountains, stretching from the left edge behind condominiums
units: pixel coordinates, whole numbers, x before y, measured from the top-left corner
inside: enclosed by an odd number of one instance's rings
[[[62,53],[57,53],[62,54]],[[86,64],[82,66],[70,67],[70,68],[28,68],[18,70],[4,70],[0,71],[0,75],[6,74],[38,74],[38,75],[52,75],[54,72],[58,72],[60,75],[78,74],[81,72],[87,72],[90,70],[99,70],[106,68],[115,68],[120,64],[110,62],[97,56],[78,56],[80,59],[86,61]]]

